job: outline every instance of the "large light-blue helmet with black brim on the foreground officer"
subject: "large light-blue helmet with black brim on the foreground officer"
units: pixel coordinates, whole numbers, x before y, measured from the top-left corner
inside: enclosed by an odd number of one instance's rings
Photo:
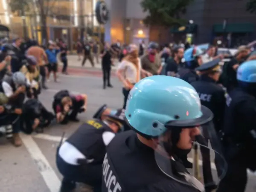
[[[158,137],[168,128],[195,127],[213,117],[189,83],[171,76],[151,76],[135,84],[125,116],[135,131],[149,137]]]

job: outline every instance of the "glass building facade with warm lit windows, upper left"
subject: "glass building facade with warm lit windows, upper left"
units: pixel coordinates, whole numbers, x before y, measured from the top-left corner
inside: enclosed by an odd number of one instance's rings
[[[0,24],[10,29],[11,38],[28,36],[41,39],[40,6],[31,3],[31,11],[21,15],[12,13],[7,0],[1,0]],[[31,1],[33,2],[33,1]],[[81,36],[92,36],[99,40],[104,35],[104,28],[96,21],[94,9],[97,0],[46,0],[44,10],[47,12],[48,38],[62,38],[73,47]],[[1,34],[0,34],[1,35]]]

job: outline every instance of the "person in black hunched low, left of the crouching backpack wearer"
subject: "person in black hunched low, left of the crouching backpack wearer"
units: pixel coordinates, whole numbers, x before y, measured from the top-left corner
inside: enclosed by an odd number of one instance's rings
[[[27,100],[22,111],[21,129],[26,134],[31,134],[33,131],[43,132],[55,117],[38,99]]]

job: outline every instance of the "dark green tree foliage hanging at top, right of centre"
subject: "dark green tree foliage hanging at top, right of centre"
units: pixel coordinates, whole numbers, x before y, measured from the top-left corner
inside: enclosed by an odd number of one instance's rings
[[[186,7],[193,0],[142,0],[143,12],[148,12],[144,23],[146,25],[157,24],[162,26],[172,26],[174,24],[186,24],[186,20],[181,19],[181,15],[186,13]]]

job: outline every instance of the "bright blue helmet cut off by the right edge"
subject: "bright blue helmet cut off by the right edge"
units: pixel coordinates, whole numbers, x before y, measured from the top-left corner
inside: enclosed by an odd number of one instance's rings
[[[237,70],[236,79],[246,83],[256,83],[256,60],[241,64]]]

